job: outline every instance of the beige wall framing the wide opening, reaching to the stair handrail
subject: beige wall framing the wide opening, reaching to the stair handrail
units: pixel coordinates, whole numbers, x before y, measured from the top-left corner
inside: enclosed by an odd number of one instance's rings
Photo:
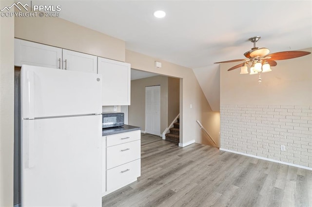
[[[160,69],[155,68],[155,61],[161,62]],[[131,63],[131,68],[154,72],[165,76],[181,78],[180,79],[180,142],[185,144],[188,142],[202,143],[207,139],[199,129],[196,120],[203,123],[204,127],[209,131],[212,137],[217,140],[219,127],[218,124],[210,124],[218,122],[197,82],[192,69],[178,66],[163,60],[126,50],[126,62]],[[192,104],[192,108],[191,108]],[[203,109],[207,113],[204,113]],[[181,113],[182,112],[182,113]],[[205,123],[204,123],[205,122]],[[208,124],[207,124],[208,123]]]

